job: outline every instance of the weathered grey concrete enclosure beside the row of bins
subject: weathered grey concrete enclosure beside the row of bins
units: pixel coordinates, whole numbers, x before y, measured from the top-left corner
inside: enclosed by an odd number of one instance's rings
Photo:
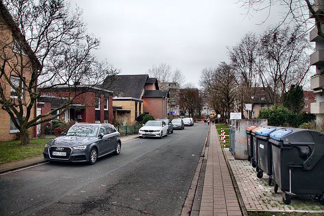
[[[249,154],[246,129],[252,125],[268,125],[268,119],[231,119],[229,125],[232,128],[232,133],[229,134],[232,147],[230,150],[234,158],[247,160]]]

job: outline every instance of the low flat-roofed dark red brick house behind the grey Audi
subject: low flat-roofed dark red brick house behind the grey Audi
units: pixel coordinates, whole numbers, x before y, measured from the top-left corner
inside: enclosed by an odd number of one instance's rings
[[[77,86],[76,93],[84,91],[84,87]],[[70,94],[67,88],[58,88],[56,92],[44,93],[38,100],[37,111],[45,114],[58,108],[64,103],[64,97]],[[53,113],[52,116],[57,113]],[[51,117],[47,116],[47,118]],[[59,118],[65,121],[103,123],[112,121],[112,92],[98,88],[77,96]]]

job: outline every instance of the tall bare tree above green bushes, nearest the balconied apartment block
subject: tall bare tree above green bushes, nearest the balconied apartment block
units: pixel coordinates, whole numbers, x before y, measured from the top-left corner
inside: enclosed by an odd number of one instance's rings
[[[263,87],[270,91],[272,104],[281,104],[287,88],[300,85],[310,69],[309,40],[300,32],[298,27],[274,26],[261,36],[258,71]]]

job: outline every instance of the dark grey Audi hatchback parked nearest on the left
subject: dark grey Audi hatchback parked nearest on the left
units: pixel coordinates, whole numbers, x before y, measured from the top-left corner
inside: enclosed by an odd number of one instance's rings
[[[53,161],[89,162],[98,157],[120,153],[120,134],[111,124],[76,123],[50,140],[44,149],[44,159]]]

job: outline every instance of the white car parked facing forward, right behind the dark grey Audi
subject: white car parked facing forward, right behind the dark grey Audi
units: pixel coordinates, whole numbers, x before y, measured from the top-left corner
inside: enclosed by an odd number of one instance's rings
[[[168,136],[168,125],[164,121],[147,121],[138,131],[139,137],[158,137]]]

